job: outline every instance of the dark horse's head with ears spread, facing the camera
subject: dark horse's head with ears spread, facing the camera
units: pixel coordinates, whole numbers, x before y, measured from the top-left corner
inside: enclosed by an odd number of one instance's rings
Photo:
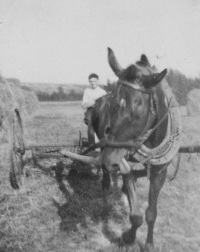
[[[118,63],[108,48],[108,62],[118,76],[109,103],[109,124],[106,122],[107,146],[102,153],[102,165],[108,170],[119,166],[142,135],[155,121],[154,94],[167,70],[155,73],[145,55],[126,69]]]

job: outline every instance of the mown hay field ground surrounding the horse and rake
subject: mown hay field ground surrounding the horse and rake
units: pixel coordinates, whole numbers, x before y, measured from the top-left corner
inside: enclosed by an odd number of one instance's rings
[[[86,132],[82,119],[80,103],[42,103],[33,120],[25,125],[26,142],[76,141],[79,130]],[[183,118],[185,142],[196,141],[200,136],[198,127],[191,132],[191,122],[194,125],[195,121]],[[6,155],[6,145],[1,146],[0,251],[134,251],[131,247],[118,248],[115,243],[129,225],[127,205],[116,187],[110,192],[108,218],[101,215],[101,177],[95,170],[90,172],[85,166],[64,161],[61,182],[60,173],[56,176],[50,169],[56,160],[45,160],[45,171],[29,163],[23,187],[14,192],[8,181]],[[69,173],[70,165],[74,169]],[[166,181],[158,201],[156,252],[200,251],[199,166],[199,156],[184,154],[177,178]],[[86,172],[81,172],[83,168]],[[120,187],[120,178],[118,184]],[[147,179],[138,180],[143,212],[147,207],[148,185]],[[144,251],[146,229],[144,221],[137,233],[140,251]]]

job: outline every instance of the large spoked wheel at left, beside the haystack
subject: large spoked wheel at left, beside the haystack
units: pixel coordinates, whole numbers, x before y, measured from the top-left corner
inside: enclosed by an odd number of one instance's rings
[[[22,185],[25,145],[23,139],[22,119],[17,109],[15,109],[12,115],[10,144],[10,183],[13,189],[19,189]]]

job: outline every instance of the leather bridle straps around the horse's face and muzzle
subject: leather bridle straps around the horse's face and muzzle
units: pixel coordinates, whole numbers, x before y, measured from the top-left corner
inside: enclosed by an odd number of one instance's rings
[[[137,137],[136,140],[130,140],[126,142],[116,142],[116,141],[110,141],[106,137],[101,139],[100,142],[91,145],[88,149],[86,149],[83,154],[86,154],[90,152],[91,150],[94,150],[98,147],[105,148],[105,147],[113,147],[113,148],[127,148],[129,149],[130,154],[134,154],[137,152],[138,149],[143,145],[143,143],[150,137],[150,135],[157,129],[157,127],[167,118],[169,110],[170,110],[170,104],[167,109],[167,112],[165,115],[161,118],[161,120],[151,129],[151,126],[153,122],[156,119],[156,113],[155,113],[155,106],[157,106],[157,96],[155,94],[155,87],[153,88],[144,88],[140,85],[138,82],[130,83],[128,81],[122,81],[119,80],[117,84],[122,84],[124,86],[131,87],[139,92],[146,93],[150,95],[150,111],[148,113],[148,118],[146,121],[146,124],[142,130],[142,133]]]

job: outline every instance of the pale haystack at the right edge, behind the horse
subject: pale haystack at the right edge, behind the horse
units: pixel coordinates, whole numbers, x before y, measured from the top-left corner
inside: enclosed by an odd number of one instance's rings
[[[187,96],[188,116],[200,116],[200,89],[193,89]]]

